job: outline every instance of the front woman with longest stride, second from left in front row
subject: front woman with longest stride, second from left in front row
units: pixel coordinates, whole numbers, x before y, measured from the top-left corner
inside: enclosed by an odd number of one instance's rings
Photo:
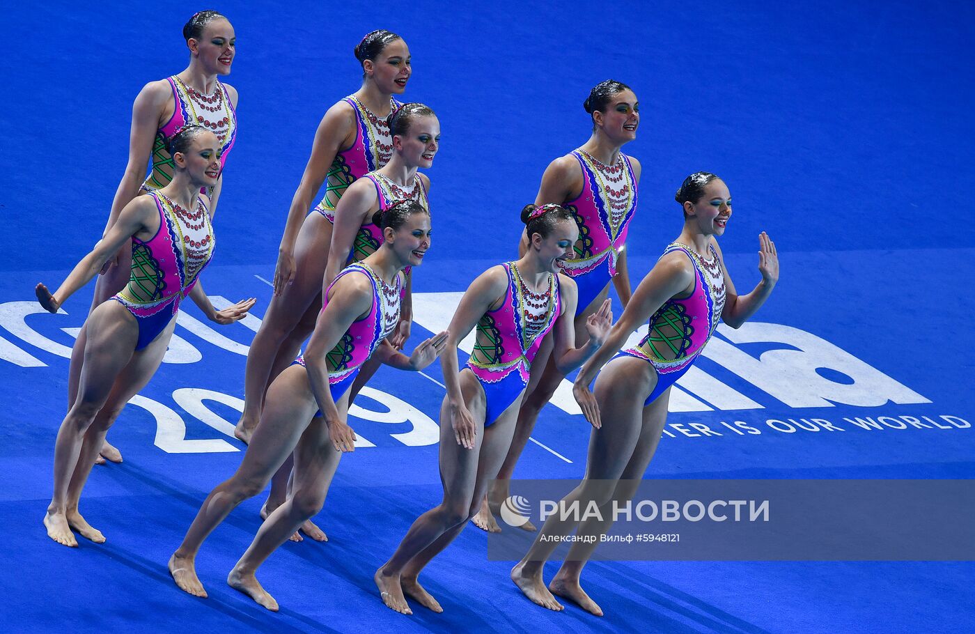
[[[346,419],[349,387],[359,368],[374,354],[394,368],[422,370],[444,350],[447,332],[426,339],[409,357],[385,340],[399,323],[403,268],[418,265],[430,247],[429,212],[415,201],[398,201],[372,219],[382,227],[382,246],[331,283],[304,356],[278,375],[267,391],[254,442],[240,468],[207,496],[170,559],[176,585],[192,595],[207,596],[196,575],[196,555],[204,539],[238,504],[260,493],[293,452],[292,495],[268,516],[227,577],[232,587],[276,611],[278,602],[254,574],[318,513],[342,452],[353,451],[355,434]]]

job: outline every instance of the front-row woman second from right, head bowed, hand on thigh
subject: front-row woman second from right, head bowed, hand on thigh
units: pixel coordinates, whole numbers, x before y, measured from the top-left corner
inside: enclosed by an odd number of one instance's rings
[[[588,343],[572,348],[575,283],[559,273],[559,262],[571,255],[579,235],[571,213],[559,205],[529,205],[522,220],[530,240],[525,255],[492,266],[474,280],[448,327],[441,361],[447,382],[440,412],[444,499],[413,522],[374,576],[383,603],[402,614],[412,614],[407,596],[443,612],[417,575],[480,508],[487,484],[511,446],[515,416],[541,341],[553,332],[553,357],[568,373],[599,348],[609,331],[612,315],[604,301],[586,321]],[[475,326],[474,354],[458,372],[457,342]]]

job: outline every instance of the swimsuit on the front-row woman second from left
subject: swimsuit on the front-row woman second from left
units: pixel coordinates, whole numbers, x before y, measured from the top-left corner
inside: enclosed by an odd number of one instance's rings
[[[329,389],[331,398],[336,403],[352,386],[352,381],[359,374],[359,368],[372,356],[379,343],[389,337],[400,321],[402,276],[397,274],[396,283],[391,286],[363,262],[349,264],[335,276],[325,296],[322,297],[323,312],[329,305],[331,289],[335,283],[342,277],[352,274],[365,275],[369,278],[372,285],[372,308],[366,317],[352,322],[331,352],[326,354]],[[299,356],[294,363],[304,367],[304,356]],[[315,416],[321,416],[321,413],[316,413]]]

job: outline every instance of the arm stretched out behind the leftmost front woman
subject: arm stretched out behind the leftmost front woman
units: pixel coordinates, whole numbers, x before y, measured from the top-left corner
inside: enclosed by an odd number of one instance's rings
[[[157,223],[159,222],[156,216],[156,204],[149,196],[137,197],[126,205],[118,219],[108,229],[108,233],[98,241],[91,253],[81,258],[54,294],[48,291],[44,284],[37,285],[35,293],[41,305],[50,312],[58,312],[60,305],[78,289],[88,284],[108,258],[118,253],[126,241],[131,240],[132,236],[139,231],[147,230],[148,223],[153,218]],[[155,229],[155,226],[151,228]]]

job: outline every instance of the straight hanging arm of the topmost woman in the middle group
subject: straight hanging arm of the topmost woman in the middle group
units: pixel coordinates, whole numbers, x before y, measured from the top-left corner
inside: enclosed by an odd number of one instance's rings
[[[294,279],[294,243],[297,241],[298,231],[311,209],[315,195],[325,182],[335,155],[355,126],[353,119],[351,106],[345,101],[339,101],[329,108],[318,124],[311,156],[308,157],[304,174],[301,175],[301,182],[294,191],[292,206],[285,221],[285,231],[278,247],[278,264],[274,269],[275,295],[280,295],[284,287]]]

